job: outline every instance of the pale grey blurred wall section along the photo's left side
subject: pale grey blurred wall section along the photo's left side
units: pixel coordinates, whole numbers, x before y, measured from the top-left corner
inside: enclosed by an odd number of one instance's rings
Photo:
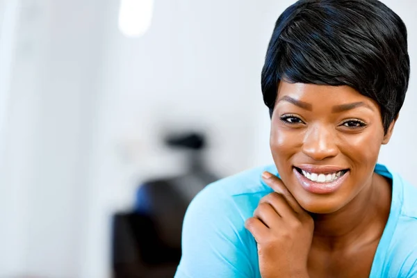
[[[80,277],[106,6],[20,2],[0,146],[0,277]]]

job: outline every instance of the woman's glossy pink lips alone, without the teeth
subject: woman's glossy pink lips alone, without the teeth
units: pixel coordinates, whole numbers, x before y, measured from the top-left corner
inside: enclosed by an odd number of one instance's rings
[[[322,171],[328,171],[329,170],[325,167],[321,167]],[[304,168],[300,167],[300,169],[304,170]],[[329,168],[330,169],[330,168]],[[340,167],[338,167],[336,170],[336,168],[332,168],[330,170],[330,172],[337,172],[340,170],[345,170],[345,169],[341,169]],[[311,170],[311,168],[310,168]],[[317,167],[314,168],[314,170],[311,170],[311,172],[316,172],[318,169]],[[308,170],[307,170],[308,171]],[[304,177],[304,175],[300,174],[300,172],[297,171],[297,169],[295,169],[295,167],[293,167],[293,172],[295,174],[295,177],[297,178],[297,180],[299,181],[299,183],[301,184],[302,188],[304,188],[304,190],[308,191],[309,193],[313,193],[313,194],[330,194],[330,193],[334,193],[336,192],[336,190],[338,190],[339,188],[341,188],[343,182],[347,179],[347,177],[349,177],[350,171],[345,172],[345,174],[343,174],[342,177],[336,179],[336,181],[332,181],[329,183],[317,183],[314,181],[310,181],[309,179],[307,179],[306,177]],[[310,172],[310,171],[308,171]],[[320,174],[324,174],[325,172],[316,172],[316,173],[320,173]]]

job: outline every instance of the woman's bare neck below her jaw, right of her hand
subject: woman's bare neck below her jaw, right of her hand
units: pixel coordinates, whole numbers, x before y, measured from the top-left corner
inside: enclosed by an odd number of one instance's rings
[[[382,236],[390,208],[390,183],[374,173],[368,186],[339,211],[312,215],[312,247],[335,251],[375,243]]]

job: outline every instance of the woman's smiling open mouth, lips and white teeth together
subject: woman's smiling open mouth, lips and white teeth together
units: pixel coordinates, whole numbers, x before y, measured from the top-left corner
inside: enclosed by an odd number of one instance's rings
[[[302,188],[313,194],[334,193],[349,176],[349,169],[340,167],[293,167]]]

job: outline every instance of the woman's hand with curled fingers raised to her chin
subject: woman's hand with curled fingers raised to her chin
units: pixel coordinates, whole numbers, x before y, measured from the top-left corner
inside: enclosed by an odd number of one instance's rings
[[[307,258],[314,222],[278,177],[262,174],[275,192],[261,199],[245,227],[258,243],[263,278],[308,277]]]

